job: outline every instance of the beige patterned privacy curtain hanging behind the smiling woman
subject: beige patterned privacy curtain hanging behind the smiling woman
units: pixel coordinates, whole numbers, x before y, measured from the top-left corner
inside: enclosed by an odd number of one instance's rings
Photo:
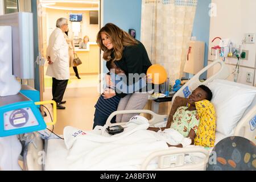
[[[171,84],[183,75],[197,0],[142,0],[141,42]]]

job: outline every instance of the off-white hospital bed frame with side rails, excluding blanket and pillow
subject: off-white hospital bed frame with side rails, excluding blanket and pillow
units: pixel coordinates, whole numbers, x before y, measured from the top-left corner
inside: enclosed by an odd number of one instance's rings
[[[199,80],[199,77],[202,73],[207,71],[212,67],[216,67],[218,65],[219,69],[212,77],[209,77],[204,82]],[[186,88],[189,90],[193,90],[197,88],[199,85],[207,85],[209,82],[212,82],[215,79],[225,80],[229,76],[228,67],[221,60],[216,60],[212,64],[209,64],[207,67],[202,69],[199,73],[197,73],[191,80],[189,80],[183,87],[175,94],[176,96],[184,97],[186,94]],[[230,82],[230,84],[236,85],[234,82]],[[241,85],[241,84],[240,84]],[[255,89],[252,86],[246,86],[250,89]],[[114,125],[125,125],[125,123],[110,123],[111,119],[114,115],[117,114],[127,114],[127,113],[146,113],[151,115],[150,125],[151,126],[160,126],[159,123],[167,122],[168,115],[159,115],[154,113],[151,110],[125,110],[125,111],[115,111],[112,113],[108,120],[107,124]],[[238,122],[233,135],[245,137],[254,143],[255,140],[255,132],[256,130],[251,131],[250,129],[250,121],[251,119],[255,119],[256,115],[256,97],[254,98],[252,104],[247,107],[245,113],[242,118]],[[42,139],[38,133],[32,134],[34,137],[33,142],[28,143],[24,148],[24,169],[26,170],[44,170],[44,169],[56,169],[56,170],[65,170],[65,159],[68,155],[68,150],[65,148],[64,141],[61,139]],[[226,138],[227,136],[221,133],[216,132],[216,143],[220,140]],[[215,144],[216,144],[215,143]],[[155,151],[152,154],[148,155],[144,162],[142,163],[139,169],[147,170],[151,169],[150,163],[152,160],[157,160],[158,164],[155,166],[155,170],[205,170],[209,155],[210,149],[206,149],[200,146],[191,146],[186,148],[176,148],[170,147],[168,150]],[[196,160],[194,163],[185,163],[184,156],[187,154],[200,154],[202,158],[200,160]]]

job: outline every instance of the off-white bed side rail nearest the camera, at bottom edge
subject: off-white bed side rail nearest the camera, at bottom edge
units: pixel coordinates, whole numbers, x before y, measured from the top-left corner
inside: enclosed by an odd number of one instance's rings
[[[195,152],[203,154],[205,159],[197,164],[187,164],[184,166],[184,154]],[[181,156],[181,158],[179,158],[179,156]],[[209,159],[209,151],[200,146],[187,148],[170,147],[168,150],[155,151],[148,155],[148,157],[144,160],[141,170],[146,171],[148,164],[150,164],[150,162],[155,158],[158,158],[158,168],[155,170],[205,170]],[[177,162],[172,163],[174,159],[177,160]],[[177,163],[178,165],[176,165]]]

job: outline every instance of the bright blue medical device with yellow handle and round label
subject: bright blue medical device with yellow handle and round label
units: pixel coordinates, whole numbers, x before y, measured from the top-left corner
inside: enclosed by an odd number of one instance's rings
[[[22,86],[15,96],[0,97],[0,137],[46,129],[56,123],[56,103],[40,101],[38,90]],[[53,104],[53,123],[45,123],[39,105]]]

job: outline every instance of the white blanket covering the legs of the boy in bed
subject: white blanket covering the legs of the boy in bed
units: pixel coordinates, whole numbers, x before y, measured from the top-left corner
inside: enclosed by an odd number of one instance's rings
[[[65,127],[64,141],[72,170],[113,170],[141,165],[154,151],[167,150],[170,144],[179,144],[183,136],[175,130],[162,133],[146,130],[148,122],[129,122],[125,131],[116,135],[105,133],[105,127],[81,131]],[[152,161],[156,163],[156,161]]]

